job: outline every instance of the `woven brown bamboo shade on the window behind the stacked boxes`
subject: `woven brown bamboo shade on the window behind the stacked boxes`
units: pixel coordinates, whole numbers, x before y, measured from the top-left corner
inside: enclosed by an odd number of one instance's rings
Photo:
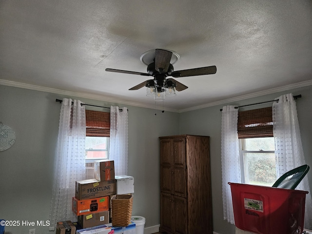
[[[86,110],[86,136],[109,137],[111,127],[109,112]]]

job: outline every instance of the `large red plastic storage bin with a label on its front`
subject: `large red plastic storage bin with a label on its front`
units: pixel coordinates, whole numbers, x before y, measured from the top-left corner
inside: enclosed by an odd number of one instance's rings
[[[257,234],[303,233],[307,191],[229,184],[237,228]]]

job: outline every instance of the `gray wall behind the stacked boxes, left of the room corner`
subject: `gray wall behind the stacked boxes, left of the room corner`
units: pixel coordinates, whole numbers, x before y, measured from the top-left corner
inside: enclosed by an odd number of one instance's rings
[[[0,121],[16,133],[15,144],[0,152],[0,219],[19,220],[20,223],[22,220],[37,223],[37,220],[49,219],[61,107],[56,98],[63,97],[0,86]],[[118,105],[79,99],[93,105]],[[155,226],[159,224],[160,213],[158,137],[178,134],[179,114],[126,107],[129,110],[128,175],[135,177],[132,214],[144,216],[146,227]],[[93,110],[100,108],[93,107]],[[37,224],[35,227],[6,227],[5,231],[28,234],[32,228],[36,228],[36,234],[49,233],[47,227]]]

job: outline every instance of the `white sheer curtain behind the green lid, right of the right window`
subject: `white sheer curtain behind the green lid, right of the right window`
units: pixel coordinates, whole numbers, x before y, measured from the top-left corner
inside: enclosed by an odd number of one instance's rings
[[[277,176],[306,164],[301,144],[296,102],[292,94],[282,95],[273,103],[273,136]],[[298,190],[309,191],[306,196],[305,228],[312,229],[312,201],[308,177],[297,186]]]

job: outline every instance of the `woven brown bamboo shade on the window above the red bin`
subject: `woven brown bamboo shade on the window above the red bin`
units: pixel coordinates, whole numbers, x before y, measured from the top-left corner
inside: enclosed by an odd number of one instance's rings
[[[273,137],[272,107],[238,112],[238,138]]]

